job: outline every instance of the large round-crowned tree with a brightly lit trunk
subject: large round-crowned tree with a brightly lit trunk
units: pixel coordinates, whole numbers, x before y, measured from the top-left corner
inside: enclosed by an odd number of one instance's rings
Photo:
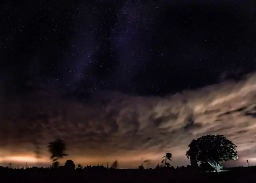
[[[221,169],[223,161],[236,160],[236,146],[223,135],[206,135],[192,140],[186,157],[190,161],[208,163],[215,171]]]

